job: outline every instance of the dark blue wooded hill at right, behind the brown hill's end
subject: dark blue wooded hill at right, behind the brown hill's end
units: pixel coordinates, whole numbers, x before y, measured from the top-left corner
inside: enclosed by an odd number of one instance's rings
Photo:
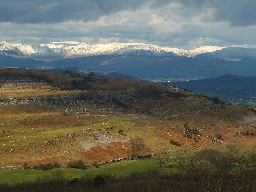
[[[220,97],[225,101],[256,106],[256,76],[223,75],[217,78],[167,84],[186,88],[200,95]]]

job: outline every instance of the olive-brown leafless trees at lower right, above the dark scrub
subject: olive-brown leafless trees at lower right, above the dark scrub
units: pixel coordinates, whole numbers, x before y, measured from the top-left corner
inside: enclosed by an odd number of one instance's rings
[[[185,172],[220,172],[234,168],[256,169],[256,146],[245,145],[237,140],[197,152],[175,152],[178,170]]]

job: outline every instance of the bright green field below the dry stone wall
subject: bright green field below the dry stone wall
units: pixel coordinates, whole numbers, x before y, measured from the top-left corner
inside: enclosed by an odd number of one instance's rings
[[[42,170],[1,170],[0,183],[15,184],[20,182],[36,181],[44,176],[52,177],[54,172],[61,170],[64,178],[77,178],[80,176],[97,175],[97,174],[113,174],[116,176],[127,175],[132,172],[146,172],[157,168],[156,158],[145,158],[139,160],[126,160],[100,166],[100,168],[88,168],[87,170],[78,170],[72,168],[58,168],[47,171]]]

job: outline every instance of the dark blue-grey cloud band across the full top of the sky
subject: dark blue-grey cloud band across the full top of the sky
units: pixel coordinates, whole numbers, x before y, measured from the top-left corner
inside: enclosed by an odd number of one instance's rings
[[[145,3],[151,8],[170,2],[181,3],[189,18],[193,11],[214,8],[212,18],[205,21],[227,21],[231,26],[256,25],[256,0],[1,0],[0,22],[55,23],[66,20],[96,20],[100,16],[122,10],[135,10]]]

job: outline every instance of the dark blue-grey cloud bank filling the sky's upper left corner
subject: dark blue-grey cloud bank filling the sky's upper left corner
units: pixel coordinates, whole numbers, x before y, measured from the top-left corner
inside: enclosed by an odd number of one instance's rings
[[[89,21],[96,20],[104,14],[136,9],[143,2],[137,0],[1,0],[0,22]]]

